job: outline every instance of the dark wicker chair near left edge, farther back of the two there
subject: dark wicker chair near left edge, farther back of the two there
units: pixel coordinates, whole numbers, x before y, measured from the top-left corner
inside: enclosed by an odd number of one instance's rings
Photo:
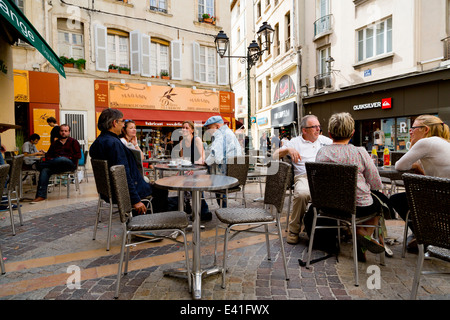
[[[15,205],[17,206],[20,225],[23,225],[22,210],[20,208],[20,184],[22,180],[23,158],[23,154],[14,156],[12,158],[8,185],[6,186],[5,190],[6,196],[8,197],[9,216],[11,217],[11,228],[13,235],[16,235],[16,230],[14,227],[13,201],[15,201]]]

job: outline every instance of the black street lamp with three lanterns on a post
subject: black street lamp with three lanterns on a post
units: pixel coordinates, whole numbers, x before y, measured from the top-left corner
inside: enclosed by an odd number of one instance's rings
[[[270,46],[273,42],[272,34],[275,30],[268,24],[267,22],[263,22],[261,27],[259,28],[257,35],[259,43],[261,44],[261,47],[258,45],[256,40],[252,40],[250,45],[247,48],[247,55],[246,56],[230,56],[226,55],[228,46],[230,44],[230,39],[226,35],[225,32],[222,30],[219,31],[216,38],[214,39],[214,43],[216,44],[216,50],[217,53],[221,58],[237,58],[239,59],[240,63],[247,63],[247,104],[248,104],[248,111],[247,111],[247,117],[248,117],[248,124],[247,124],[247,130],[248,130],[248,136],[249,136],[249,147],[251,144],[251,99],[250,99],[250,70],[251,68],[258,62],[259,58],[262,56],[264,51],[269,50]]]

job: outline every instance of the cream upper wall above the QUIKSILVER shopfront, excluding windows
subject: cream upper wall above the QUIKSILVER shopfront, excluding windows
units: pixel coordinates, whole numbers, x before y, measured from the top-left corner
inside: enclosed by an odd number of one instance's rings
[[[310,1],[305,15],[304,68],[309,94],[323,94],[349,86],[440,67],[442,39],[448,36],[448,0],[329,0],[330,29],[314,34],[320,1]],[[392,18],[392,51],[358,61],[358,31]],[[319,51],[329,48],[330,88],[315,90],[320,74]]]

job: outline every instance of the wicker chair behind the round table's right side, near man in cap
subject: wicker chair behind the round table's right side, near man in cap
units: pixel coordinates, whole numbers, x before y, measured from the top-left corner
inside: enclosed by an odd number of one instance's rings
[[[245,199],[245,184],[247,182],[248,168],[250,166],[250,157],[249,156],[241,156],[241,157],[232,157],[227,160],[227,176],[238,179],[239,185],[236,187],[227,189],[227,190],[219,190],[214,191],[217,194],[226,195],[230,193],[238,193],[242,191],[242,201],[244,203],[244,207],[247,208],[247,200]],[[220,207],[222,207],[222,199],[220,203]]]

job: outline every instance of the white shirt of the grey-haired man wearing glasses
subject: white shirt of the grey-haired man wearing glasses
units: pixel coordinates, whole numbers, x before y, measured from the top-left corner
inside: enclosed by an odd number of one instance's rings
[[[305,162],[315,161],[319,149],[332,143],[333,140],[322,135],[314,142],[303,139],[303,136],[298,136],[284,143],[281,149],[294,148],[300,153],[302,159],[297,163],[292,163],[294,174],[297,176],[306,174]]]

